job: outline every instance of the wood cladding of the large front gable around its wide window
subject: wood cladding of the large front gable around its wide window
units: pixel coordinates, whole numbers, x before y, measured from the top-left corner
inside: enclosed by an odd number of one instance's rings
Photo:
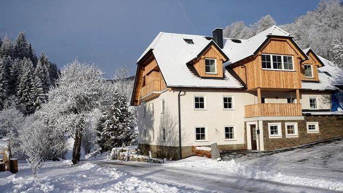
[[[258,54],[241,60],[231,66],[246,84],[248,90],[257,88],[300,89],[301,70],[299,50],[287,38],[271,38]],[[262,69],[261,54],[293,56],[293,70]],[[273,64],[272,64],[273,65]]]

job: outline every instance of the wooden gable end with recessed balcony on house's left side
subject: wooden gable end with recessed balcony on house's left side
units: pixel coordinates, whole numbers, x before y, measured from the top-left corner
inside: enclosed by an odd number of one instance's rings
[[[154,55],[151,54],[138,66],[131,105],[140,105],[143,101],[153,100],[160,95],[158,91],[166,88],[167,86],[157,61]]]

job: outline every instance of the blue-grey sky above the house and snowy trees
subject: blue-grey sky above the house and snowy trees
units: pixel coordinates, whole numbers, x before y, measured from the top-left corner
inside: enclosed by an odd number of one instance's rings
[[[217,27],[254,24],[266,14],[287,24],[318,2],[0,0],[0,34],[15,39],[25,31],[36,54],[43,51],[60,68],[78,58],[112,78],[122,66],[134,75],[138,57],[160,31],[212,36]]]

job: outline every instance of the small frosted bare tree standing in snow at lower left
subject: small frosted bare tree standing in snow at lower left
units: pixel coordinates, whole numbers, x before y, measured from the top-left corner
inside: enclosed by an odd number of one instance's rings
[[[27,156],[27,162],[35,178],[43,165],[45,151],[49,146],[49,133],[46,132],[44,120],[34,119],[18,131],[21,148]]]

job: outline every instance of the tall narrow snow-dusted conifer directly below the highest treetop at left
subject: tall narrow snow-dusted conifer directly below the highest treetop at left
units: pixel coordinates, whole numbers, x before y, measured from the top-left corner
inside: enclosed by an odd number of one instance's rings
[[[24,58],[24,66],[16,94],[20,102],[18,106],[26,115],[34,112],[33,101],[31,100],[32,68],[31,60]]]

